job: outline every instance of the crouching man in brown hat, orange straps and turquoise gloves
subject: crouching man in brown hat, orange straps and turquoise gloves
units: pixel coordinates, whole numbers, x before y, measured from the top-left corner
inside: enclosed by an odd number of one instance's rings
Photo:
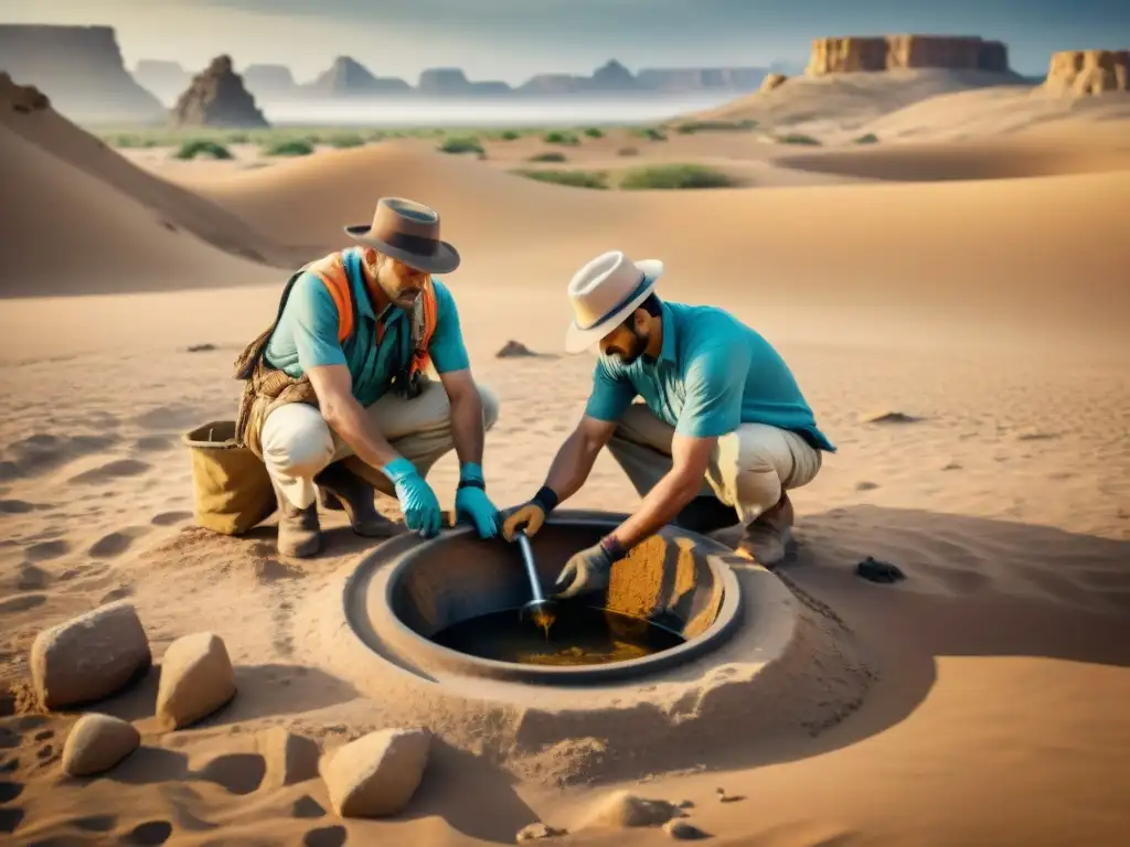
[[[279,552],[321,548],[319,491],[359,535],[391,534],[374,489],[399,499],[410,530],[435,535],[443,512],[425,477],[452,447],[457,518],[495,536],[481,462],[498,403],[471,378],[455,302],[432,276],[455,270],[459,253],[440,239],[434,209],[400,198],[346,233],[357,245],[295,273],[275,323],[236,363],[246,379],[236,437],[273,483]]]

